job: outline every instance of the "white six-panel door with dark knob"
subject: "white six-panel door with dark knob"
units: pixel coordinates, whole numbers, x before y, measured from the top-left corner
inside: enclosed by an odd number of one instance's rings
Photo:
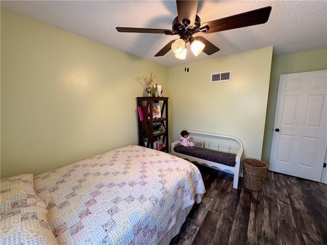
[[[281,75],[269,170],[321,181],[327,148],[327,70]]]

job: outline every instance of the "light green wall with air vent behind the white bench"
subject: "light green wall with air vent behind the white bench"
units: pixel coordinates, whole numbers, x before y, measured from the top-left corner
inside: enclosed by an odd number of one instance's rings
[[[244,157],[261,158],[272,47],[169,68],[171,141],[183,129],[232,135]],[[231,71],[231,81],[210,83]]]

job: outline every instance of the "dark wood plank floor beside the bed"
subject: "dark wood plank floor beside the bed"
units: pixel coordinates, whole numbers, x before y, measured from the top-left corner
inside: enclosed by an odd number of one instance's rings
[[[196,164],[197,165],[197,164]],[[327,244],[327,185],[269,171],[261,191],[197,165],[206,193],[170,245]]]

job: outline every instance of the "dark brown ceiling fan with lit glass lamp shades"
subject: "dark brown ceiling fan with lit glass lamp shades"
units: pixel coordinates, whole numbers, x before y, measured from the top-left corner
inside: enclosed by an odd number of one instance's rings
[[[196,14],[198,1],[176,1],[178,16],[173,20],[172,30],[116,27],[118,32],[133,33],[158,33],[165,35],[179,35],[179,39],[171,40],[155,55],[164,56],[171,49],[178,59],[185,59],[185,44],[189,43],[192,52],[197,56],[202,51],[207,55],[212,55],[220,49],[202,36],[193,37],[193,34],[210,34],[241,27],[263,24],[268,21],[271,7],[244,12],[229,17],[212,20],[201,24],[200,17]]]

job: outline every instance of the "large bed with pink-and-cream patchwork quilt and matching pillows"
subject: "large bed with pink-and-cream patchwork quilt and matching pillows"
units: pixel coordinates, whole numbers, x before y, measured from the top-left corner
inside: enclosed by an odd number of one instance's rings
[[[169,244],[205,188],[194,164],[128,145],[1,180],[3,244]]]

